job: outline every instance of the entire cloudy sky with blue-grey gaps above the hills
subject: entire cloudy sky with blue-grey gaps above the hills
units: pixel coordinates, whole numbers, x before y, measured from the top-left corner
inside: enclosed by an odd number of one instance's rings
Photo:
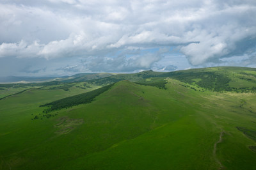
[[[0,76],[256,67],[255,0],[1,0]]]

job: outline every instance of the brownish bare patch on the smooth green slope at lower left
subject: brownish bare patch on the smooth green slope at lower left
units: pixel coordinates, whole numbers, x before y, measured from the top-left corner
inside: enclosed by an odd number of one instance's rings
[[[59,123],[54,125],[54,127],[58,128],[55,133],[59,135],[68,134],[78,125],[84,123],[83,119],[70,119],[68,117],[59,118],[57,121],[59,121]]]

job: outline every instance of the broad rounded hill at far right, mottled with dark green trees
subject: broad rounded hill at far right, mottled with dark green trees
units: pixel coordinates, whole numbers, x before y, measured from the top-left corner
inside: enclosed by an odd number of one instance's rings
[[[243,67],[213,67],[164,73],[182,82],[196,84],[211,91],[255,92],[256,69]]]

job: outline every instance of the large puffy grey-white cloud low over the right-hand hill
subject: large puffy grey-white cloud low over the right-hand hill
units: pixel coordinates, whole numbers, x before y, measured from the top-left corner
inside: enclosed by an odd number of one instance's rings
[[[208,62],[219,63],[223,57],[249,54],[256,47],[255,26],[245,27],[232,23],[211,30],[210,33],[197,28],[193,30],[193,35],[196,35],[199,43],[180,47],[180,52],[194,66]]]

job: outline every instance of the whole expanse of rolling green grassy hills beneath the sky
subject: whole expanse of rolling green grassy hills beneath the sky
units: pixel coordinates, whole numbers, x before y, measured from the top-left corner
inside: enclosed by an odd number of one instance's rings
[[[255,169],[255,74],[147,71],[3,98],[0,169]]]

